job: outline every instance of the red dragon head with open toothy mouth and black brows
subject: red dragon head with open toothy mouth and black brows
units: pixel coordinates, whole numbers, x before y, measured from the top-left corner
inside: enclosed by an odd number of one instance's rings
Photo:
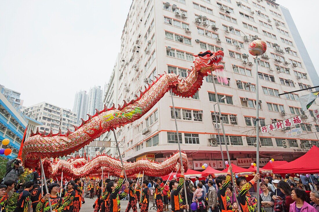
[[[206,51],[204,53],[199,53],[194,55],[196,57],[195,69],[202,73],[206,73],[208,71],[223,71],[224,66],[221,63],[223,60],[224,53],[221,50],[217,52]]]

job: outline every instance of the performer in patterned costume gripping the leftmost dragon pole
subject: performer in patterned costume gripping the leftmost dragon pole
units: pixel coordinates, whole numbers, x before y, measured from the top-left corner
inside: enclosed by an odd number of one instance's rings
[[[45,194],[42,197],[41,201],[38,202],[36,207],[36,212],[49,212],[50,206],[48,198],[50,197],[52,211],[59,211],[60,207],[62,206],[62,198],[57,195],[60,191],[60,185],[58,183],[52,183],[49,187],[49,193]]]

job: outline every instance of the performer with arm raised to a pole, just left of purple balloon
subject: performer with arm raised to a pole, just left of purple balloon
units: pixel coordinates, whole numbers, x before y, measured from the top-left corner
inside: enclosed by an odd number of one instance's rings
[[[180,191],[184,185],[184,168],[181,168],[181,177],[179,182],[176,180],[171,180],[169,183],[169,188],[171,189],[171,207],[173,212],[183,212],[184,209],[189,209],[189,205],[183,205],[182,196]]]

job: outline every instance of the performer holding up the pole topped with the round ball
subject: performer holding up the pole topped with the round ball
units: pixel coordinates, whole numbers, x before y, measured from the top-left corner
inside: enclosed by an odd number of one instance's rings
[[[238,177],[236,184],[240,191],[237,194],[238,203],[241,212],[256,212],[257,198],[249,194],[249,189],[260,179],[260,174],[257,173],[252,180],[247,182],[245,177]]]

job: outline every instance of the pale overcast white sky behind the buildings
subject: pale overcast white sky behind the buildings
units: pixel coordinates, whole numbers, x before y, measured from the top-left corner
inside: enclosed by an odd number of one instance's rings
[[[24,106],[72,109],[76,91],[108,81],[131,2],[0,1],[0,84],[21,92]],[[277,3],[290,10],[318,72],[319,2]]]

